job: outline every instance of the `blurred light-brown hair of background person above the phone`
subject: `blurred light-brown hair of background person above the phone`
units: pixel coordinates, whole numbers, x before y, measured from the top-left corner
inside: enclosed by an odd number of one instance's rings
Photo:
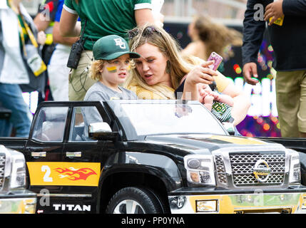
[[[205,43],[205,56],[210,56],[215,51],[226,59],[233,56],[231,46],[243,44],[243,35],[239,31],[214,23],[208,16],[195,16],[194,28],[198,31],[200,40]]]

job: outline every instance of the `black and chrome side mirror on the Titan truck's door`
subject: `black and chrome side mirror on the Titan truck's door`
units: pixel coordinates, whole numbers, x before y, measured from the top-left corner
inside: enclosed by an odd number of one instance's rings
[[[118,135],[106,122],[91,123],[88,127],[88,136],[93,140],[116,140]]]

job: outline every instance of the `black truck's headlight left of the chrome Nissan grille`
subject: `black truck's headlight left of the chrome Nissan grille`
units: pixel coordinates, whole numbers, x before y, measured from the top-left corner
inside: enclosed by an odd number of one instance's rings
[[[213,155],[187,155],[184,164],[188,182],[215,185]]]

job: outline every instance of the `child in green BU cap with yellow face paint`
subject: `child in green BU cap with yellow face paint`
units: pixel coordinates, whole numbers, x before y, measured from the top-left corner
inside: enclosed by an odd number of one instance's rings
[[[128,43],[120,36],[110,35],[98,39],[93,45],[94,61],[91,64],[91,78],[98,80],[88,89],[84,100],[133,100],[137,95],[119,86],[128,76],[131,58],[140,58],[136,52],[131,52]],[[90,123],[102,122],[98,110],[82,108],[85,124],[84,134],[88,135]]]

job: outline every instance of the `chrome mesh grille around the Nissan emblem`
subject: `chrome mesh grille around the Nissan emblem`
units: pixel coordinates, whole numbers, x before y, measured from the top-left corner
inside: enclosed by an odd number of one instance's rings
[[[233,184],[237,187],[251,185],[282,185],[285,178],[285,152],[230,153]],[[253,167],[258,160],[265,160],[270,167],[266,182],[258,182]]]

